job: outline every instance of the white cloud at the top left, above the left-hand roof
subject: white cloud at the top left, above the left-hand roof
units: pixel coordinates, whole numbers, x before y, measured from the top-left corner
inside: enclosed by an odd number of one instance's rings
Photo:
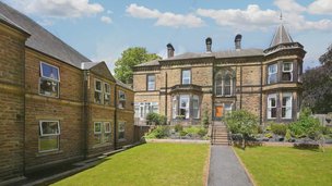
[[[88,0],[13,0],[9,3],[28,14],[57,18],[76,18],[104,11],[100,4]]]

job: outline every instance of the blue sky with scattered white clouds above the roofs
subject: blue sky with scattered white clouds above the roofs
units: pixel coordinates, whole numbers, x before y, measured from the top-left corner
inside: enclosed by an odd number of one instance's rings
[[[307,51],[305,69],[332,44],[332,0],[0,0],[39,23],[93,61],[115,61],[129,47],[144,47],[166,58],[242,48],[266,49],[283,23]],[[282,20],[280,18],[282,15]]]

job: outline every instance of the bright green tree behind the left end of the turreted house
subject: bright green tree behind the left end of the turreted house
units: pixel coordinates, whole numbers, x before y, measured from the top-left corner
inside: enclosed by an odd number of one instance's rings
[[[147,53],[145,48],[128,48],[121,53],[121,58],[116,61],[115,75],[119,80],[132,84],[133,66],[156,59],[162,58],[155,53]]]

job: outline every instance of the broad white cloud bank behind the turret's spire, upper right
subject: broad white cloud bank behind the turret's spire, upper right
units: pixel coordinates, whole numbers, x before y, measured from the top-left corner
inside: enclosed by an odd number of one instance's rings
[[[286,3],[289,8],[286,8]],[[308,21],[301,14],[306,8],[299,5],[294,0],[275,0],[281,9],[284,10],[284,22],[289,25],[289,28],[295,30],[330,30],[332,29],[331,20]],[[295,10],[295,11],[290,11]],[[280,13],[274,10],[261,10],[258,4],[249,4],[246,10],[226,9],[198,9],[197,13],[201,16],[210,17],[217,25],[230,26],[234,29],[266,29],[270,26],[275,26],[281,23],[278,20]]]

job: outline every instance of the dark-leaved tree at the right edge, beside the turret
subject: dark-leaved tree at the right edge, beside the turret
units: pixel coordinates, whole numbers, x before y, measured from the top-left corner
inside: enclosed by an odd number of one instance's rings
[[[304,74],[304,106],[313,113],[332,112],[332,47],[319,58],[321,66]]]

